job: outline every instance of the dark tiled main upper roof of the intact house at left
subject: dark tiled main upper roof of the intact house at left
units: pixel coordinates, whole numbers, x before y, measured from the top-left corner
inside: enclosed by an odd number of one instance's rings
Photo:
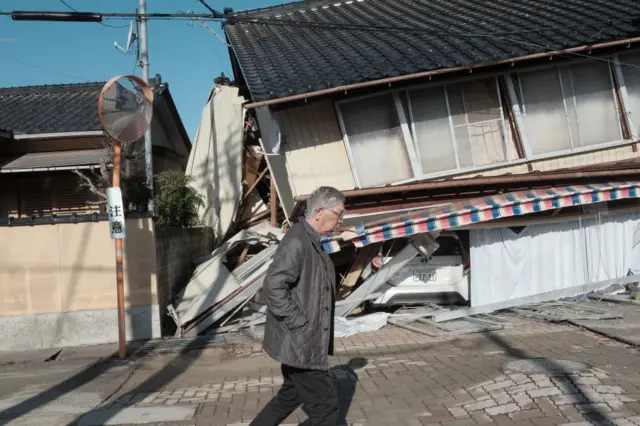
[[[104,84],[0,88],[0,128],[16,135],[102,130],[98,97]],[[161,95],[165,88],[157,86],[156,93]]]

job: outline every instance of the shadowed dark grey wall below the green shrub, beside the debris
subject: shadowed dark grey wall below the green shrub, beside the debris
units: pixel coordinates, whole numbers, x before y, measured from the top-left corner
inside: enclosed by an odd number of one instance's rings
[[[166,315],[167,304],[182,290],[198,261],[213,251],[212,228],[158,228],[156,250],[158,253],[158,305],[162,334],[175,332],[175,324]]]

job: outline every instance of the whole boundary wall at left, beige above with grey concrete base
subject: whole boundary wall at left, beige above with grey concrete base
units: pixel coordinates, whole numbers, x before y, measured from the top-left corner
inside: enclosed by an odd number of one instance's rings
[[[108,222],[0,227],[0,350],[117,341]],[[128,340],[160,336],[151,219],[128,219]]]

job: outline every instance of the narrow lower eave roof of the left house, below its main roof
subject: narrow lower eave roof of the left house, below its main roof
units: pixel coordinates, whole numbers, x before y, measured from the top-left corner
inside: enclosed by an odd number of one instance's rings
[[[0,173],[11,173],[33,169],[98,166],[103,157],[101,149],[79,149],[73,151],[32,152],[11,158],[0,158]]]

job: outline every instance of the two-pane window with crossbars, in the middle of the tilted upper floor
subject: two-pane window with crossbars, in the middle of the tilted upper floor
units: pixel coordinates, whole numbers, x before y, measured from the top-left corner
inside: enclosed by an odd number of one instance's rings
[[[496,79],[409,92],[413,134],[425,174],[514,158]]]

